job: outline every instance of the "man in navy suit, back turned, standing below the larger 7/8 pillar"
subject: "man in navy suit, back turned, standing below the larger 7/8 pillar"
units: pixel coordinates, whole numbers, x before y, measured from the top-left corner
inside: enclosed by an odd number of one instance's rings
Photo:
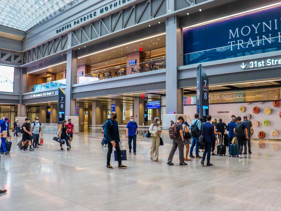
[[[214,125],[210,122],[212,119],[211,115],[206,116],[207,122],[201,125],[200,128],[200,135],[202,134],[203,130],[203,137],[204,137],[204,148],[205,151],[203,153],[203,157],[201,160],[201,164],[204,166],[205,157],[207,154],[207,166],[213,166],[213,164],[210,163],[210,157],[211,157],[211,148],[212,143],[215,142],[215,132],[214,132]]]

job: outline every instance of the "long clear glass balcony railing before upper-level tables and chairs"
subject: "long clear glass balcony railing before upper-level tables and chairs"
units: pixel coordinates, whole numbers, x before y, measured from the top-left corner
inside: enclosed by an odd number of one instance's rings
[[[124,75],[138,74],[142,72],[150,72],[166,68],[166,58],[149,60],[133,65],[123,65],[117,67],[110,67],[109,69],[98,69],[91,71],[90,74],[76,76],[76,84],[98,81],[107,78],[114,78]]]

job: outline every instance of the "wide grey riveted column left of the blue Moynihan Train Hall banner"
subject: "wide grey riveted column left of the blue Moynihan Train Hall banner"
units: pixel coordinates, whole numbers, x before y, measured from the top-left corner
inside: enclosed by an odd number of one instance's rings
[[[166,19],[166,113],[183,113],[182,90],[177,89],[177,66],[182,54],[181,28],[179,17]]]

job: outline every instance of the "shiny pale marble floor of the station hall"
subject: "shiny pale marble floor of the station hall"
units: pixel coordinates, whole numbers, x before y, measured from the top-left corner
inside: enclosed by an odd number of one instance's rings
[[[278,142],[252,143],[244,159],[212,156],[214,166],[200,159],[167,166],[171,144],[160,146],[157,163],[150,160],[149,142],[137,142],[128,169],[106,169],[107,148],[101,140],[80,134],[71,151],[61,151],[51,135],[44,146],[22,152],[13,139],[10,155],[1,155],[0,211],[110,210],[281,210],[281,156]],[[279,151],[272,144],[279,145]],[[202,154],[202,153],[200,153]]]

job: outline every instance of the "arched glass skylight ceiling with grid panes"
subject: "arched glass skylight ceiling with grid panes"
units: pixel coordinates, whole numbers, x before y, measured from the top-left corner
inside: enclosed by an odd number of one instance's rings
[[[0,24],[27,31],[71,1],[72,0],[0,0]]]

